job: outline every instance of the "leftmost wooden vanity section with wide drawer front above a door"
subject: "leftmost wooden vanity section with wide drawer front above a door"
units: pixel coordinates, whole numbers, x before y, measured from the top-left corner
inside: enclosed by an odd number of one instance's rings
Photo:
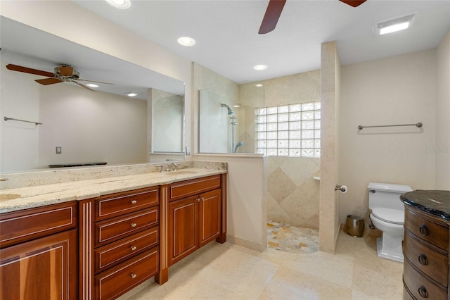
[[[0,299],[77,299],[77,202],[0,215]]]

